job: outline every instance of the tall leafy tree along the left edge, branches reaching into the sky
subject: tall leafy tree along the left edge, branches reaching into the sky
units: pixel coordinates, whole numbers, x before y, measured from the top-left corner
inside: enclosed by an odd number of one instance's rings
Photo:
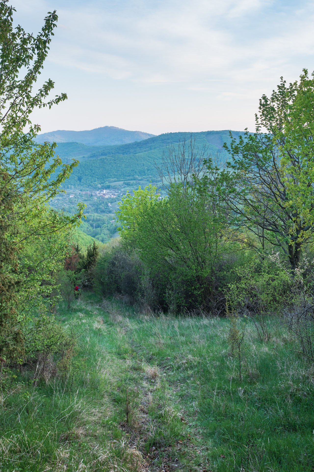
[[[62,164],[55,157],[56,143],[35,143],[40,126],[30,119],[36,107],[50,108],[66,99],[64,93],[48,99],[54,87],[50,79],[34,92],[56,27],[56,11],[48,14],[37,36],[20,25],[13,28],[14,11],[7,0],[0,1],[0,355],[7,357],[23,352],[21,323],[29,312],[25,306],[34,267],[20,264],[21,259],[27,259],[27,248],[35,241],[78,224],[83,210],[79,204],[77,214],[67,217],[47,205],[78,162],[64,165],[53,177]],[[53,270],[52,255],[45,254],[43,274]]]

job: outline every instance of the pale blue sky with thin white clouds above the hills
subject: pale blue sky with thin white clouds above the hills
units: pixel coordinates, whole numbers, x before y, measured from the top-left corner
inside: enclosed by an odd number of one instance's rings
[[[248,128],[283,76],[314,70],[314,2],[16,0],[15,23],[58,23],[41,81],[68,100],[42,132],[118,126],[161,134]]]

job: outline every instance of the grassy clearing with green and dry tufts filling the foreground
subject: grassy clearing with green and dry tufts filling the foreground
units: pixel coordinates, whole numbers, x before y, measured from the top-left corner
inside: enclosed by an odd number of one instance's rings
[[[280,320],[268,343],[248,323],[240,380],[228,320],[92,294],[57,316],[78,354],[37,386],[22,369],[2,392],[1,471],[314,470],[314,369]]]

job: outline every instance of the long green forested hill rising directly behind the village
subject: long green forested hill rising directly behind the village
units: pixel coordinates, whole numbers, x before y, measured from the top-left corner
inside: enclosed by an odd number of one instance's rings
[[[238,137],[243,132],[232,131],[232,134]],[[107,179],[120,181],[147,176],[154,178],[157,176],[155,163],[161,164],[162,155],[168,153],[168,147],[176,146],[180,141],[190,138],[191,133],[166,133],[140,142],[116,146],[60,143],[56,152],[64,162],[73,158],[80,160],[67,185],[73,188],[90,188],[105,184]],[[193,133],[192,139],[195,139],[195,145],[200,149],[205,145],[212,157],[218,155],[220,161],[228,159],[229,155],[222,147],[223,143],[230,143],[228,130]]]

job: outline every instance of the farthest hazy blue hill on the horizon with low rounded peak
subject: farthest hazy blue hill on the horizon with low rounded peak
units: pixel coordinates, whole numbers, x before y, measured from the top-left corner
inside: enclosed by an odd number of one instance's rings
[[[89,146],[107,146],[133,143],[154,136],[142,131],[129,131],[115,126],[102,126],[85,131],[57,130],[37,136],[38,143],[55,141],[56,143],[76,142]]]

